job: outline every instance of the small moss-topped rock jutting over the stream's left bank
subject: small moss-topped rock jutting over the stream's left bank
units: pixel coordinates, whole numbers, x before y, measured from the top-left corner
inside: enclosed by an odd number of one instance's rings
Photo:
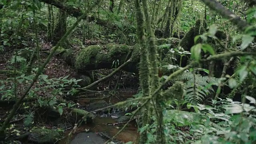
[[[71,121],[75,120],[77,122],[84,116],[84,122],[92,122],[94,119],[94,115],[90,112],[87,112],[86,110],[78,109],[78,108],[73,108],[72,109],[72,118],[70,119]]]

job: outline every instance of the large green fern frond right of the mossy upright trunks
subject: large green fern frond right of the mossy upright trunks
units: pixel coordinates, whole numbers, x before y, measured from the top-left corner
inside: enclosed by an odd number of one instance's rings
[[[185,100],[191,102],[192,104],[200,104],[211,91],[214,92],[212,86],[218,85],[219,78],[186,72],[176,78],[174,81],[177,80],[184,82]]]

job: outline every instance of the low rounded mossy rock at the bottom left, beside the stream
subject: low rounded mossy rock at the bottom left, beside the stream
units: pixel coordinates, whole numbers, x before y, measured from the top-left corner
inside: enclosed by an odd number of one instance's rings
[[[28,136],[28,141],[33,144],[54,144],[60,138],[57,130],[50,130],[46,128],[37,128],[32,130]]]

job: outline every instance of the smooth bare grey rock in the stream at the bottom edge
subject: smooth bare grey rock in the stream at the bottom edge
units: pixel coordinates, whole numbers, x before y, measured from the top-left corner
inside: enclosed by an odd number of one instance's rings
[[[77,134],[70,144],[104,144],[105,142],[106,140],[95,133],[82,132]]]

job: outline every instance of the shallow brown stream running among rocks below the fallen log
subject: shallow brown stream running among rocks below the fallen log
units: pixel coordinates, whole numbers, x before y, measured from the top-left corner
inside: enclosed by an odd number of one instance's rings
[[[111,103],[114,104],[116,102],[120,102],[120,100],[124,101],[127,98],[132,97],[132,95],[136,94],[135,90],[124,90],[121,91],[117,96],[113,96],[111,99]],[[98,97],[98,96],[97,96]],[[99,97],[104,97],[99,95]],[[88,104],[92,102],[97,102],[100,100],[105,100],[108,102],[109,98],[99,99],[99,100],[91,100],[91,99],[80,99],[78,100],[78,104],[80,104],[80,108],[87,110]],[[118,131],[124,126],[124,124],[117,124],[118,118],[120,116],[124,116],[124,112],[120,110],[112,110],[110,114],[98,113],[94,114],[95,118],[93,123],[84,124],[77,128],[76,133],[74,134],[72,141],[70,144],[104,144],[108,139],[112,138]],[[136,122],[133,120],[126,126],[126,128],[114,138],[113,142],[115,144],[123,144],[126,142],[135,142],[138,133],[137,127],[135,126]],[[66,135],[70,132],[67,131]],[[58,144],[63,144],[66,138],[61,140]]]

